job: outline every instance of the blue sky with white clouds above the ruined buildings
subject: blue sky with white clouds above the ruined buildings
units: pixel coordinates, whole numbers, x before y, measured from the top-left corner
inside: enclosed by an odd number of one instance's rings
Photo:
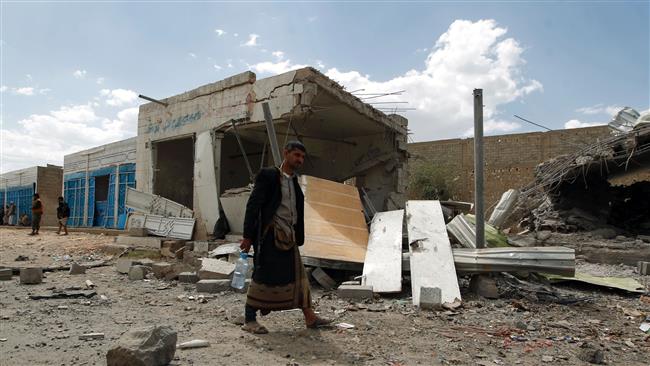
[[[312,66],[400,108],[410,141],[609,122],[650,109],[650,5],[616,2],[10,2],[0,171],[136,135],[138,94]],[[398,103],[399,102],[399,103]]]

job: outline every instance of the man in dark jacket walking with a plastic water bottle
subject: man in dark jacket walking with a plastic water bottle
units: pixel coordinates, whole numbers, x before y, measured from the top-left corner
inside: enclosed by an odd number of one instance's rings
[[[242,327],[247,332],[268,333],[257,322],[257,310],[267,315],[274,310],[302,309],[308,328],[331,322],[316,316],[311,307],[309,279],[298,250],[305,242],[305,222],[296,170],[305,153],[302,143],[287,143],[280,167],[264,168],[257,174],[246,204],[241,249],[248,252],[253,246],[255,250]]]

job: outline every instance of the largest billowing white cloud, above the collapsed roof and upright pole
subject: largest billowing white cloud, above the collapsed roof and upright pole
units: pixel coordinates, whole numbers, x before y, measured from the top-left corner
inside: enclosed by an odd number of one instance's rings
[[[485,132],[512,132],[520,126],[501,116],[503,106],[541,92],[543,87],[539,81],[526,77],[524,48],[506,34],[507,29],[494,20],[456,20],[430,48],[421,69],[385,81],[354,70],[330,68],[325,74],[347,90],[364,89],[364,93],[405,90],[399,96],[365,101],[409,102],[396,105],[415,108],[404,115],[409,119],[409,129],[416,141],[459,137],[471,131],[475,88],[483,89]],[[281,60],[251,67],[257,72],[278,74],[302,66]]]

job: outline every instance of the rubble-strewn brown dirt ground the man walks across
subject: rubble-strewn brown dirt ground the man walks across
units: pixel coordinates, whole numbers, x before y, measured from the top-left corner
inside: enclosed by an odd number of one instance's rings
[[[113,238],[71,233],[0,229],[0,265],[21,267],[81,263],[110,258],[98,250]],[[16,262],[18,255],[28,261]],[[70,256],[70,258],[64,256]],[[623,274],[647,288],[648,276],[631,267],[579,263],[594,274]],[[31,300],[47,289],[96,285],[90,299]],[[456,311],[418,311],[408,292],[355,304],[313,285],[322,316],[352,329],[307,330],[300,312],[271,313],[260,322],[267,335],[240,330],[245,295],[224,292],[201,297],[193,285],[156,279],[129,281],[113,266],[46,273],[39,285],[20,285],[18,277],[0,282],[0,360],[2,365],[102,365],[106,353],[127,330],[169,325],[179,342],[204,339],[210,347],[177,350],[175,365],[584,365],[587,345],[604,353],[610,365],[648,365],[650,338],[639,330],[650,302],[637,295],[595,287],[556,286],[589,298],[570,305],[541,303],[508,295],[477,298],[463,278],[463,306]],[[408,283],[404,284],[409,287]],[[101,296],[103,295],[103,297]],[[105,334],[83,341],[79,335]]]

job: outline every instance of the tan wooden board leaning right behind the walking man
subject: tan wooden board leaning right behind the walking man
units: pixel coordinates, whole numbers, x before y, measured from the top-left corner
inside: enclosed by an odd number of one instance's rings
[[[363,263],[368,228],[356,187],[303,175],[304,257]]]

